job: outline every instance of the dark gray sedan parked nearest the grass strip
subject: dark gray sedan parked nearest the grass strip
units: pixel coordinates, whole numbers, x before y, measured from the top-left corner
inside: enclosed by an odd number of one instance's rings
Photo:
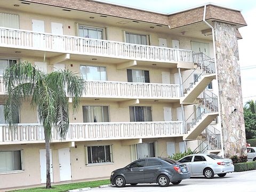
[[[110,181],[116,187],[138,183],[158,183],[166,187],[170,182],[178,185],[181,180],[189,178],[190,173],[185,164],[168,158],[145,158],[113,171]]]

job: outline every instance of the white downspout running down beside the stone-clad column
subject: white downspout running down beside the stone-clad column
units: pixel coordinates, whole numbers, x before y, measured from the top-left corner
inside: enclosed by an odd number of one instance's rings
[[[213,54],[214,54],[214,63],[215,63],[215,73],[216,73],[216,81],[218,81],[218,74],[217,74],[217,58],[216,58],[216,48],[215,48],[215,35],[214,35],[214,28],[207,22],[205,21],[205,15],[206,15],[206,5],[204,5],[204,16],[203,16],[203,21],[206,23],[207,26],[209,26],[212,29],[212,42],[213,42]],[[220,117],[220,97],[219,97],[219,83],[218,83],[218,109],[219,109],[219,117]],[[221,153],[222,157],[224,157],[224,149],[223,149],[223,136],[222,136],[222,129],[221,129],[221,117],[219,118],[220,122],[219,127],[220,127],[220,138],[221,138]]]

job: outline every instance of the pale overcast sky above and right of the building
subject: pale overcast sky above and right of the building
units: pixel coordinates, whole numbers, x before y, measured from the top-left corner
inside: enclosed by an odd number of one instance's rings
[[[172,13],[193,6],[209,3],[209,1],[203,0],[107,0],[107,2],[129,5],[163,13]],[[211,2],[242,10],[242,14],[248,25],[239,29],[240,33],[243,36],[243,39],[238,41],[239,58],[242,69],[241,77],[243,101],[245,103],[247,100],[256,100],[256,35],[254,35],[256,34],[256,1],[212,0]],[[247,66],[252,67],[250,67],[250,69],[246,69]]]

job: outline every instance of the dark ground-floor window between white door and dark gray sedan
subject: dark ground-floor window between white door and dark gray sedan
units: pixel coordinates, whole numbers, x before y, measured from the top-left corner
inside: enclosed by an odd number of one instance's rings
[[[111,146],[89,146],[87,147],[88,163],[111,162]]]

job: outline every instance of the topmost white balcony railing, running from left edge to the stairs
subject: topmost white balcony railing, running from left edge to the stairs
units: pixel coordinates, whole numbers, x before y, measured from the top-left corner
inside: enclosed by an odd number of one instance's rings
[[[0,46],[157,62],[193,62],[192,51],[0,28]]]

